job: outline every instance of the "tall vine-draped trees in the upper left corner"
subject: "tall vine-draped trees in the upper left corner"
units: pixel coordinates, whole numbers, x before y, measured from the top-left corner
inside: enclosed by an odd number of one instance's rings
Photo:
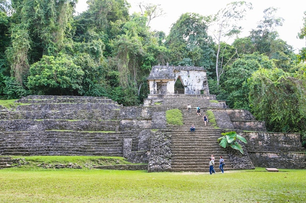
[[[76,0],[12,0],[12,46],[6,51],[12,75],[22,84],[30,64],[57,54],[69,33]]]

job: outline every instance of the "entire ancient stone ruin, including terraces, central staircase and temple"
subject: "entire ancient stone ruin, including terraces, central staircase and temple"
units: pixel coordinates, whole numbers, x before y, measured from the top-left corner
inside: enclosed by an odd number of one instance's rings
[[[14,156],[73,155],[120,156],[133,163],[116,166],[120,169],[204,172],[211,154],[226,160],[225,170],[306,168],[299,133],[267,132],[251,112],[227,108],[209,93],[202,67],[153,66],[148,83],[150,93],[141,106],[125,107],[107,97],[56,95],[22,97],[15,109],[0,106],[0,168],[16,166]],[[211,115],[207,125],[197,106]],[[167,122],[171,110],[182,114],[182,125]],[[191,125],[196,126],[192,134]],[[241,143],[243,154],[219,145],[221,133],[228,131],[247,140]]]

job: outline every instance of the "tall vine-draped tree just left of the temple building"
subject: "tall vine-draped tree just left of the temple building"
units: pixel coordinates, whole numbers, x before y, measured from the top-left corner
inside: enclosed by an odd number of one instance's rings
[[[167,50],[158,44],[158,39],[149,32],[147,18],[134,13],[131,20],[123,26],[123,34],[112,40],[114,50],[112,58],[118,68],[120,86],[129,95],[140,94],[146,76],[156,65],[156,56],[163,57]],[[124,94],[124,93],[122,93]],[[127,101],[127,99],[126,99]]]

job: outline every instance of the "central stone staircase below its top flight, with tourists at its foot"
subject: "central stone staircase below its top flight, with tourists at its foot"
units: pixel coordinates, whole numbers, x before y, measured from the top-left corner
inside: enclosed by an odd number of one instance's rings
[[[215,156],[215,169],[219,171],[219,157],[226,162],[224,170],[235,169],[224,148],[219,146],[217,139],[221,136],[219,129],[206,126],[201,116],[195,111],[183,110],[184,125],[172,128],[172,169],[171,171],[209,171],[209,158]],[[195,125],[195,132],[190,132],[190,126]]]

